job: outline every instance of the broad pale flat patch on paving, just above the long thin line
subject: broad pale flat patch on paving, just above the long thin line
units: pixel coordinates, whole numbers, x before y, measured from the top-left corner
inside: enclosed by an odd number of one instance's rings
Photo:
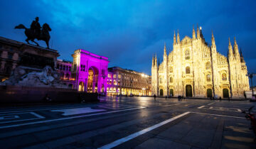
[[[98,111],[106,111],[104,109],[91,109],[90,107],[86,108],[73,108],[73,109],[60,109],[60,110],[51,110],[53,112],[63,112],[64,114],[61,114],[63,116],[72,116],[75,114],[87,114],[92,112],[98,112]]]

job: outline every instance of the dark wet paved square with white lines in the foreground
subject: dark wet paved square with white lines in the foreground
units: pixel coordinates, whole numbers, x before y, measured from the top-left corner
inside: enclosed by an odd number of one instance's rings
[[[98,104],[42,105],[18,110],[6,107],[0,110],[0,145],[256,148],[250,121],[241,114],[254,105],[248,101],[118,97],[102,98]]]

